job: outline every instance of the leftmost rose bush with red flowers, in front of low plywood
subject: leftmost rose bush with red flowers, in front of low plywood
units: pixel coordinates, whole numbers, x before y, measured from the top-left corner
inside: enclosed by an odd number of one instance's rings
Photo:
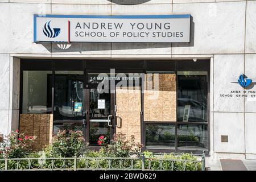
[[[4,158],[26,158],[32,151],[32,144],[36,137],[19,133],[19,130],[11,131],[7,139],[3,140],[0,147],[0,154]]]

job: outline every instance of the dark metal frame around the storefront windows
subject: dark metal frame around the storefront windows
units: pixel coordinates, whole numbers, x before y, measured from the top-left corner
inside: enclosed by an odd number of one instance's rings
[[[63,59],[68,61],[69,59]],[[71,60],[71,59],[70,59]],[[210,59],[198,59],[197,61],[193,61],[191,59],[187,60],[84,60],[84,59],[74,59],[75,61],[82,61],[82,68],[70,68],[67,71],[84,71],[84,83],[87,83],[88,73],[105,71],[110,69],[111,67],[115,68],[115,72],[138,72],[138,73],[147,73],[147,72],[175,72],[176,74],[176,83],[177,83],[177,72],[178,71],[207,71],[207,122],[178,122],[176,121],[170,122],[147,122],[144,121],[143,117],[143,105],[144,105],[144,94],[141,93],[141,103],[142,103],[142,118],[141,118],[141,141],[144,145],[143,150],[145,150],[146,143],[146,123],[170,123],[175,124],[175,150],[150,150],[152,152],[193,152],[194,154],[202,154],[202,150],[179,150],[177,149],[177,125],[189,125],[189,124],[200,124],[208,126],[208,150],[205,150],[205,153],[208,155],[210,151]],[[20,96],[19,96],[19,114],[22,114],[22,102],[23,102],[23,71],[52,71],[52,112],[54,109],[54,86],[55,86],[55,71],[61,71],[61,69],[55,68],[55,62],[61,61],[57,59],[21,59],[20,60]],[[73,60],[71,60],[73,61]],[[34,62],[33,64],[31,64]],[[40,63],[40,64],[37,64]],[[109,64],[110,63],[110,64]],[[138,63],[138,64],[136,64]],[[100,65],[100,67],[98,67]],[[155,65],[155,66],[154,66]],[[89,85],[89,84],[88,84]],[[176,84],[176,92],[177,92],[177,84]],[[176,94],[177,97],[177,94]],[[176,99],[177,102],[177,99]],[[177,107],[177,103],[176,103]],[[177,109],[176,109],[177,112]],[[177,113],[176,113],[177,117]]]

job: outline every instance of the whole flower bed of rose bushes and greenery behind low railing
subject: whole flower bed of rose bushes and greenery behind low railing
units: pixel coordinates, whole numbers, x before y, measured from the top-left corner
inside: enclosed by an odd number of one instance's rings
[[[113,136],[112,144],[100,136],[99,151],[88,150],[81,131],[61,130],[43,151],[31,151],[35,137],[12,132],[0,148],[0,170],[204,170],[204,155],[141,152],[134,136]],[[2,158],[2,159],[1,159]]]

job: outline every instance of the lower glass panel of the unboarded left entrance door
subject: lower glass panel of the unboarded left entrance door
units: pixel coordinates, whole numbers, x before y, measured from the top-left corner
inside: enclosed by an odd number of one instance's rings
[[[110,127],[107,122],[90,122],[90,138],[91,145],[98,145],[98,138],[103,135],[106,137],[106,143],[110,141]]]

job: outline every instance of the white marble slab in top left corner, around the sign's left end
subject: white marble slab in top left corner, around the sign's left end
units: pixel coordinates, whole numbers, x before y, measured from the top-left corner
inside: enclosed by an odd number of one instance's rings
[[[33,43],[33,14],[50,14],[51,5],[0,3],[0,52],[49,54],[51,43]]]

